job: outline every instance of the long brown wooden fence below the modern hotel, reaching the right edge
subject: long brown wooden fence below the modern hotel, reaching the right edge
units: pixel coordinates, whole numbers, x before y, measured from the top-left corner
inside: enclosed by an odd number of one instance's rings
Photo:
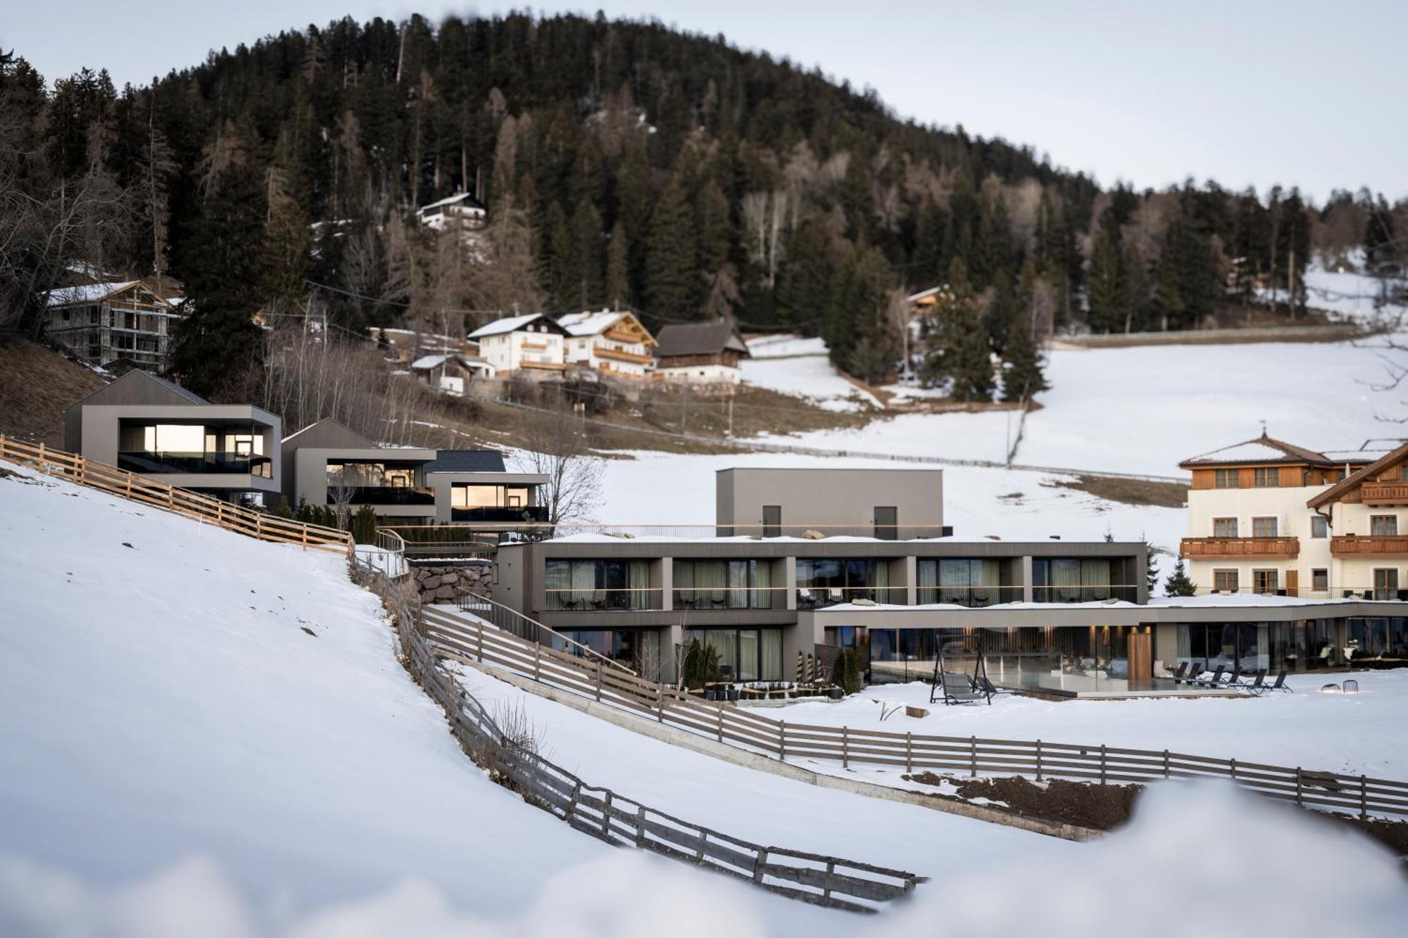
[[[638,717],[777,759],[828,759],[941,775],[1017,775],[1100,784],[1224,777],[1307,808],[1408,815],[1408,782],[1217,759],[1170,749],[1131,749],[1043,739],[988,739],[788,723],[601,668],[448,610],[425,607],[421,631],[442,658],[505,668]]]

